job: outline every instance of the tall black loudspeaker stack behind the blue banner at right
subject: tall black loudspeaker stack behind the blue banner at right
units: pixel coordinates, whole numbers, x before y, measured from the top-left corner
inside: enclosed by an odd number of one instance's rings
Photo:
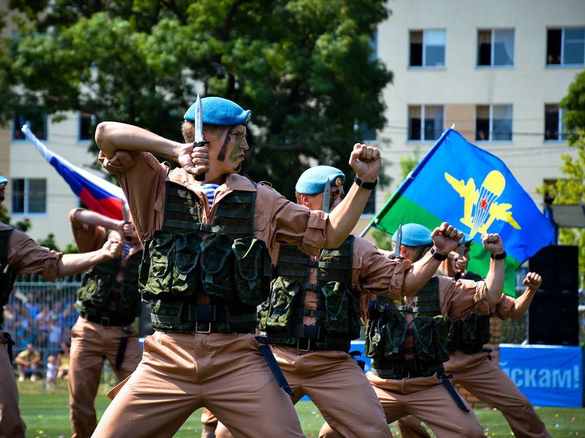
[[[529,262],[542,276],[528,310],[528,343],[579,345],[579,249],[546,246]]]

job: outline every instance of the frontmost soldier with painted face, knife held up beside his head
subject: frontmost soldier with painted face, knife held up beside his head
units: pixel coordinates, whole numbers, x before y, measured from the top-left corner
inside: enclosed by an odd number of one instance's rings
[[[317,255],[346,239],[376,185],[380,153],[354,146],[355,182],[327,215],[238,175],[249,110],[205,98],[184,118],[186,144],[121,123],[97,127],[102,165],[118,176],[144,241],[139,281],[156,332],[94,436],[172,436],[205,405],[236,436],[302,437],[290,397],[270,376],[266,361],[280,371],[270,348],[260,352],[251,334],[256,309],[267,298],[277,242]],[[182,167],[171,171],[152,154]]]

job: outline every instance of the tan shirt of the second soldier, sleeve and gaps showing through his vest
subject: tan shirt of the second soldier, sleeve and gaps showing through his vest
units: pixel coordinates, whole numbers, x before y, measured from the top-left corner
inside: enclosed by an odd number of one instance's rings
[[[316,258],[315,258],[316,259]],[[390,296],[393,300],[400,300],[402,283],[407,270],[412,265],[410,260],[388,259],[381,255],[376,246],[361,237],[353,239],[353,270],[352,287],[360,294],[360,311],[366,321],[366,312],[369,294]],[[309,283],[317,284],[317,268],[311,267]],[[318,293],[307,290],[304,307],[316,310]],[[316,318],[302,317],[305,325],[315,325]]]

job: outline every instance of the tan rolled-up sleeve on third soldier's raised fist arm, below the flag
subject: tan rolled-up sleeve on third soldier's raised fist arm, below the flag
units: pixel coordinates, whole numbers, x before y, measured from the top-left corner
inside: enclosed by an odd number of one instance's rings
[[[477,313],[487,315],[490,305],[487,300],[485,281],[453,280],[439,276],[441,313],[452,321]]]

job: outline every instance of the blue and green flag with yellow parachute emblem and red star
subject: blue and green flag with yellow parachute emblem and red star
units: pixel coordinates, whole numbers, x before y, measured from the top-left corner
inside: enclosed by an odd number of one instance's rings
[[[393,234],[400,224],[431,230],[443,221],[472,235],[468,269],[486,276],[490,253],[481,235],[498,233],[504,241],[504,291],[515,296],[515,271],[543,246],[554,230],[500,158],[446,130],[370,225]]]

